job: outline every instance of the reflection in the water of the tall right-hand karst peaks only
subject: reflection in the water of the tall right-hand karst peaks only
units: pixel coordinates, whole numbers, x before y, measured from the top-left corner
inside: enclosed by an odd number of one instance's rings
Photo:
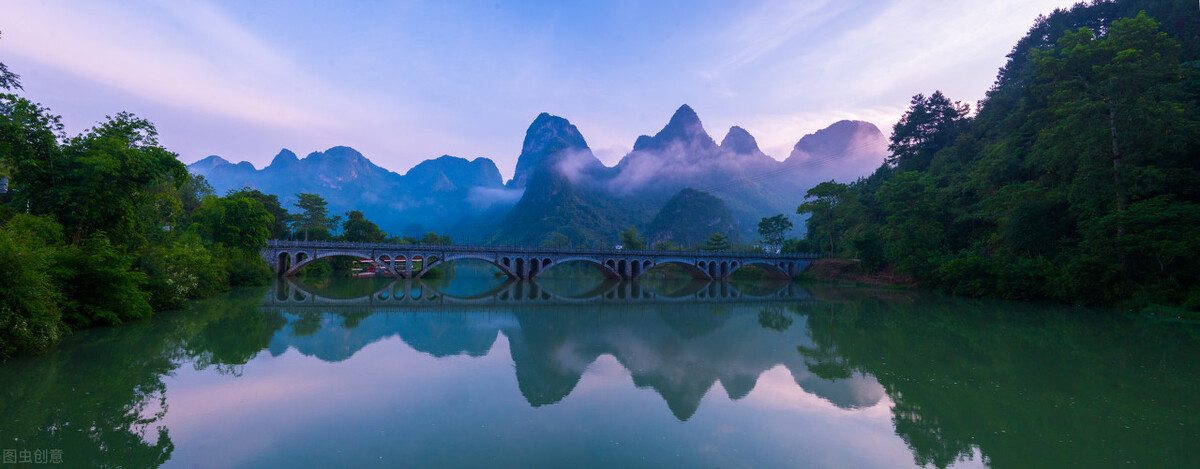
[[[689,309],[518,314],[520,331],[505,333],[521,391],[533,405],[558,402],[592,362],[612,355],[629,369],[635,385],[662,396],[679,420],[695,414],[718,381],[730,398],[738,399],[750,393],[760,374],[778,365],[805,391],[842,408],[871,405],[883,397],[882,386],[862,374],[824,380],[811,373],[797,353],[797,344],[810,343],[800,326],[766,330],[755,307],[694,305]],[[703,327],[695,327],[697,323]],[[708,332],[689,333],[697,329]]]

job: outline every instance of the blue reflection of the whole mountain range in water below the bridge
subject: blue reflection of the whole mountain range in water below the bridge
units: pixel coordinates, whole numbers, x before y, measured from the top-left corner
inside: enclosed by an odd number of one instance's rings
[[[353,299],[322,299],[304,291],[299,297],[311,305],[305,307],[293,300],[271,300],[296,299],[295,291],[271,291],[260,309],[283,312],[288,325],[275,335],[269,350],[278,355],[293,348],[341,361],[370,343],[400,337],[433,356],[482,356],[504,333],[517,383],[530,405],[562,401],[589,365],[601,355],[612,355],[636,386],[662,396],[679,420],[695,414],[718,381],[730,398],[738,399],[750,393],[760,374],[779,365],[802,389],[838,407],[871,405],[883,397],[874,378],[851,373],[827,379],[809,369],[814,360],[797,353],[797,345],[814,344],[804,321],[791,319],[803,314],[802,305],[809,296],[794,284],[758,296],[746,296],[730,284],[700,284],[690,295],[672,291],[666,297],[626,282],[596,289],[593,299],[558,299],[535,283],[516,283],[472,297],[448,299],[428,285],[402,283],[386,295],[358,299],[366,303],[359,312],[352,311]],[[299,284],[278,288],[302,289]],[[409,301],[410,294],[397,300],[396,291],[414,289],[421,290],[421,301]],[[396,303],[415,312],[361,317]],[[473,305],[473,312],[462,312],[464,305]],[[338,312],[325,312],[331,308]],[[791,326],[767,329],[763,314],[785,318]]]

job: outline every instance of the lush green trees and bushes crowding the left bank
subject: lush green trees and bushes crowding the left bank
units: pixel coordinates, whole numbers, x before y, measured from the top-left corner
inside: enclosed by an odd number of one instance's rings
[[[131,114],[67,137],[48,109],[0,94],[0,357],[271,276],[265,196],[214,196]]]

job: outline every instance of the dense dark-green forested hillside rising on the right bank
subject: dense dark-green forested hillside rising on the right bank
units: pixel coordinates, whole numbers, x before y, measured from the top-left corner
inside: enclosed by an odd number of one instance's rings
[[[1200,309],[1198,59],[1194,2],[1039,18],[976,115],[917,95],[883,167],[810,191],[808,245],[959,294]]]

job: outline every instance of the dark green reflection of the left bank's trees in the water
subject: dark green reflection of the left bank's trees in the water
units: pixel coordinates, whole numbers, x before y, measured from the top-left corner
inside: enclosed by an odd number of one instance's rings
[[[282,327],[241,290],[112,329],[84,330],[43,356],[0,366],[0,445],[62,450],[68,467],[151,468],[174,444],[163,377],[181,363],[236,374]]]

